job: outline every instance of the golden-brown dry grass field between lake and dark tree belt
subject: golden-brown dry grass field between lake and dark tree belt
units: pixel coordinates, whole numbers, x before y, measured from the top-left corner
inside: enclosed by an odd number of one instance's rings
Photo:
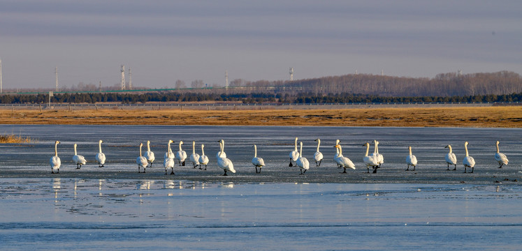
[[[3,124],[519,128],[522,106],[375,109],[4,109]]]

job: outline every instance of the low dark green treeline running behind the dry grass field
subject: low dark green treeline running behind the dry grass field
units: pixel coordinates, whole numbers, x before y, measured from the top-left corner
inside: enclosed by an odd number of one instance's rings
[[[3,104],[45,103],[49,96],[44,94],[10,94],[0,96]],[[474,96],[421,96],[421,97],[386,97],[365,94],[339,93],[317,96],[314,93],[298,93],[296,96],[269,93],[177,93],[175,91],[153,93],[57,93],[51,102],[59,103],[97,103],[119,102],[122,104],[146,102],[242,102],[245,104],[261,103],[358,103],[358,102],[522,102],[522,93],[505,95]]]

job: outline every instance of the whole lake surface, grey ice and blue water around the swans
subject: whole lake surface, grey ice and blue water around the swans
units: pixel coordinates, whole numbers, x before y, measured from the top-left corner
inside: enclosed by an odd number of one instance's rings
[[[518,128],[331,128],[237,126],[0,126],[29,144],[0,146],[0,243],[4,250],[519,250],[522,244],[522,130]],[[312,164],[321,138],[325,160],[305,175],[288,167],[293,138]],[[103,139],[108,162],[94,163]],[[191,164],[165,175],[166,142],[205,144],[208,171]],[[236,174],[215,165],[217,140]],[[356,170],[339,174],[335,139]],[[365,142],[379,140],[384,164],[366,174]],[[59,140],[60,174],[48,164]],[[138,174],[138,144],[157,162]],[[509,158],[498,169],[495,141]],[[474,174],[447,171],[444,146]],[[72,145],[90,160],[71,162]],[[267,166],[255,174],[252,144]],[[199,147],[198,147],[199,146]],[[419,159],[405,172],[407,146]],[[144,149],[145,151],[145,149]],[[373,148],[370,149],[373,151]]]

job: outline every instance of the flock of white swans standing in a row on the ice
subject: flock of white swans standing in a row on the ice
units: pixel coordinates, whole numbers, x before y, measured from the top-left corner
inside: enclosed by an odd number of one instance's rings
[[[317,142],[317,151],[314,153],[314,160],[317,167],[321,165],[321,162],[323,160],[323,154],[321,151],[319,151],[319,147],[321,145],[321,139],[315,139],[314,141]],[[300,169],[300,174],[304,174],[308,169],[310,169],[310,162],[307,160],[307,158],[303,157],[303,142],[299,142],[300,149],[297,151],[297,142],[298,138],[296,137],[294,141],[294,148],[293,151],[289,153],[290,158],[290,164],[289,167],[293,167],[296,165]],[[103,140],[99,140],[99,153],[96,153],[96,161],[98,162],[98,167],[104,167],[106,162],[106,156],[101,151],[101,143],[103,143]],[[165,167],[165,174],[167,174],[168,169],[171,169],[171,174],[174,174],[174,165],[175,160],[177,160],[177,163],[180,166],[185,165],[185,160],[187,159],[187,153],[182,150],[182,144],[183,142],[180,141],[179,143],[179,151],[176,153],[173,153],[171,149],[171,144],[173,143],[172,140],[169,140],[167,143],[167,149],[166,153],[164,155],[164,167]],[[58,157],[58,144],[60,144],[59,141],[55,142],[55,155],[50,158],[50,165],[51,165],[51,173],[55,174],[55,171],[57,174],[59,174],[59,168],[61,165],[61,160]],[[502,168],[502,165],[507,165],[509,160],[507,160],[507,157],[504,153],[500,153],[500,150],[498,148],[499,142],[496,142],[497,146],[497,152],[495,153],[495,160],[499,163],[498,168]],[[379,169],[384,163],[384,156],[379,153],[378,148],[379,142],[377,140],[374,140],[374,152],[369,155],[370,151],[370,143],[365,143],[363,146],[366,146],[366,152],[363,157],[363,162],[366,165],[367,172],[370,173],[370,167],[373,170],[373,173],[377,173],[377,169]],[[467,145],[468,143],[464,143],[465,148],[465,158],[463,159],[463,165],[464,165],[464,172],[467,172],[467,168],[471,168],[471,173],[474,171],[474,165],[475,161],[474,158],[471,157],[467,151]],[[85,157],[82,155],[78,155],[76,151],[77,145],[74,144],[74,155],[73,155],[73,162],[76,164],[76,169],[80,169],[82,165],[85,165],[87,160],[85,160]],[[254,144],[252,146],[254,148],[254,158],[252,158],[252,165],[256,168],[256,174],[261,173],[261,168],[265,166],[265,162],[263,158],[257,157],[257,146]],[[343,168],[344,171],[343,174],[346,174],[346,169],[356,169],[355,165],[351,160],[345,156],[342,155],[342,146],[340,145],[340,140],[337,139],[335,141],[335,147],[336,153],[333,157],[333,160],[337,163],[338,168]],[[140,143],[140,155],[138,158],[136,158],[136,164],[138,165],[138,173],[141,173],[141,168],[143,168],[143,173],[145,173],[145,169],[147,167],[152,167],[152,163],[156,159],[154,156],[154,153],[150,151],[150,141],[147,141],[147,151],[145,152],[145,155],[142,153],[143,143]],[[205,169],[207,169],[207,165],[209,162],[208,156],[205,155],[205,145],[201,144],[201,155],[196,153],[196,142],[192,142],[192,154],[189,157],[189,161],[192,163],[192,167],[195,169],[196,167],[199,167],[199,169],[203,169],[203,165],[205,166]],[[224,151],[225,148],[225,141],[223,139],[219,140],[219,152],[216,154],[217,158],[217,166],[224,170],[224,176],[227,176],[227,172],[235,173],[234,165],[232,161],[229,158],[226,158],[226,153]],[[451,150],[451,145],[447,145],[444,148],[449,149],[449,153],[446,154],[445,159],[447,162],[447,170],[449,169],[449,165],[454,165],[454,169],[456,170],[457,166],[457,158],[455,153]],[[406,164],[407,169],[406,171],[409,171],[409,167],[412,166],[412,171],[415,171],[415,167],[417,165],[417,159],[415,155],[412,154],[412,146],[408,146],[409,155],[406,156]],[[258,172],[259,167],[259,172]]]

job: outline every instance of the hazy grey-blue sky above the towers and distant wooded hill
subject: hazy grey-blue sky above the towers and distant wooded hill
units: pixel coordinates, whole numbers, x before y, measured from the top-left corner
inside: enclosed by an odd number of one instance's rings
[[[522,1],[0,0],[3,88],[522,73]]]

